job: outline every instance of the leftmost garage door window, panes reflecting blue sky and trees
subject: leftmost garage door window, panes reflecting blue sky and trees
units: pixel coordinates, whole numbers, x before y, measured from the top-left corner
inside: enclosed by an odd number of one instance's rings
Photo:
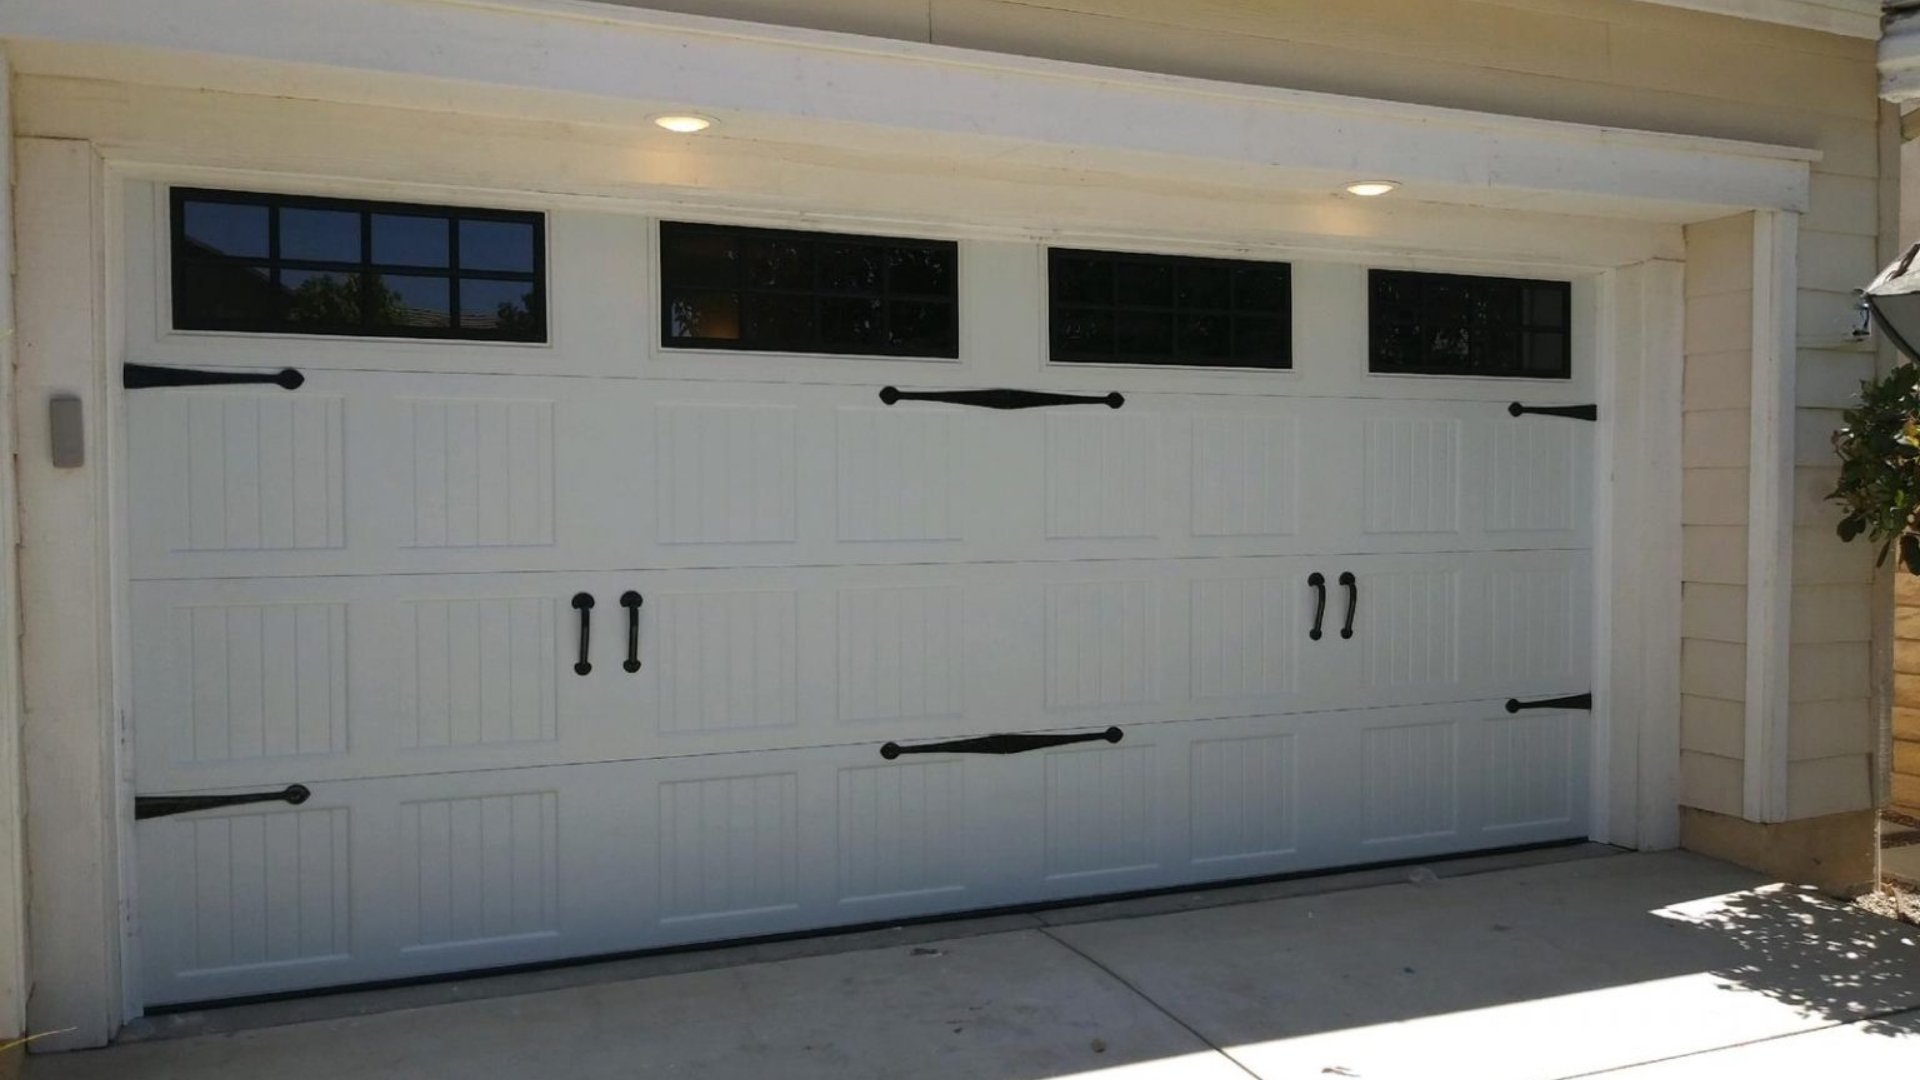
[[[543,342],[543,219],[173,188],[173,325]]]

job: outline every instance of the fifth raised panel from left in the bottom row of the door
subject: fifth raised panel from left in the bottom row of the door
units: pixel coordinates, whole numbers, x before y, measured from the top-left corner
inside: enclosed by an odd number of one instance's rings
[[[1046,755],[1046,876],[1158,865],[1152,748]]]

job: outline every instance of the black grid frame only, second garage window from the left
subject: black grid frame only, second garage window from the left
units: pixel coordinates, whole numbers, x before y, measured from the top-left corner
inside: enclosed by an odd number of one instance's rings
[[[670,350],[699,350],[699,352],[732,352],[732,354],[755,354],[755,356],[835,356],[835,357],[856,357],[856,359],[960,359],[960,244],[954,240],[931,240],[918,236],[876,236],[864,233],[820,233],[810,229],[766,229],[758,225],[724,225],[710,221],[660,221],[659,225],[659,258],[655,259],[659,269],[659,306],[660,306],[660,348]],[[672,273],[670,244],[676,236],[726,236],[735,244],[739,240],[774,240],[787,244],[808,246],[808,286],[778,286],[778,284],[753,284],[747,279],[745,259],[735,261],[733,281],[730,284],[710,284],[710,282],[676,282]],[[822,277],[820,250],[824,248],[876,248],[881,252],[881,281],[879,288],[833,288],[828,286]],[[893,258],[891,252],[916,250],[916,252],[941,252],[947,256],[947,288],[943,292],[912,292],[893,286]],[[699,338],[674,334],[674,294],[708,294],[724,296],[732,294],[735,298],[735,311],[739,319],[739,336],[735,338]],[[806,338],[749,338],[747,336],[747,306],[741,304],[749,296],[778,296],[778,298],[804,298],[810,304],[812,323],[810,334]],[[835,344],[828,340],[826,331],[826,304],[833,300],[854,300],[854,302],[874,302],[879,304],[881,329],[879,336],[883,344],[872,348],[858,346],[847,348],[845,344]],[[920,304],[920,306],[945,306],[947,325],[945,334],[931,346],[900,346],[895,344],[893,334],[893,306],[895,304]]]

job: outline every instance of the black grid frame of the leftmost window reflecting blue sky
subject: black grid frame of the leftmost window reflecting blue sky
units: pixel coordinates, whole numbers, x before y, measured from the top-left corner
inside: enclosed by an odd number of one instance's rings
[[[198,252],[186,236],[186,204],[227,204],[259,206],[267,209],[267,254],[225,256]],[[507,342],[507,344],[547,344],[547,215],[534,209],[495,209],[474,206],[440,206],[420,202],[394,202],[371,198],[303,196],[282,192],[252,192],[238,188],[169,188],[169,281],[173,282],[171,319],[175,331],[188,332],[240,332],[240,334],[307,334],[326,338],[409,338],[409,340],[461,340],[461,342]],[[340,259],[298,259],[280,256],[280,211],[282,209],[321,209],[359,215],[359,261]],[[444,267],[376,263],[372,261],[372,219],[374,215],[428,217],[447,223],[447,261]],[[499,271],[461,267],[461,223],[499,221],[528,225],[532,229],[532,269]],[[349,323],[298,323],[288,319],[215,319],[196,317],[182,309],[188,294],[188,281],[196,267],[234,267],[269,269],[271,281],[280,281],[280,271],[342,273],[355,275],[361,288],[361,321]],[[432,277],[447,282],[447,325],[411,327],[378,325],[371,321],[371,288],[380,275]],[[528,327],[524,331],[503,331],[499,327],[461,325],[461,279],[526,282],[530,288]]]

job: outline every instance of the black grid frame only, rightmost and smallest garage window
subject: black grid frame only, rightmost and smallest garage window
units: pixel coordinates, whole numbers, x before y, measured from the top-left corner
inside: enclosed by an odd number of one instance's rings
[[[1380,300],[1380,284],[1386,279],[1400,279],[1404,282],[1415,282],[1419,288],[1419,298],[1411,306],[1388,307]],[[1465,290],[1480,290],[1482,294],[1492,288],[1509,288],[1513,292],[1513,306],[1509,311],[1494,313],[1498,317],[1473,319],[1469,323],[1459,323],[1455,319],[1436,319],[1434,317],[1434,286],[1453,286]],[[1555,304],[1555,319],[1551,323],[1540,323],[1530,317],[1534,298],[1540,294],[1551,294]],[[1407,309],[1413,307],[1415,313],[1409,317]],[[1386,350],[1388,327],[1415,327],[1415,336],[1419,340],[1419,359],[1413,363],[1400,363]],[[1434,357],[1434,331],[1442,325],[1467,331],[1467,357],[1461,361],[1436,361]],[[1572,379],[1572,282],[1559,279],[1532,279],[1532,277],[1496,277],[1496,275],[1465,275],[1465,273],[1428,273],[1428,271],[1409,271],[1409,269],[1384,269],[1375,267],[1367,271],[1367,373],[1369,375],[1421,375],[1421,377],[1444,377],[1444,379],[1540,379],[1563,382]],[[1473,346],[1476,336],[1496,336],[1511,334],[1511,348],[1505,354],[1509,363],[1498,363],[1498,350],[1482,354],[1480,359],[1475,357]],[[1557,334],[1561,340],[1559,363],[1553,369],[1528,369],[1526,342],[1530,336]]]

